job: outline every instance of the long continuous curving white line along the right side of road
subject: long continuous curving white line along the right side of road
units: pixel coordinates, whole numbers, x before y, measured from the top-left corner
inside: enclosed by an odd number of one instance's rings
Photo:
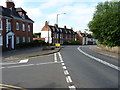
[[[119,68],[119,67],[117,67],[117,66],[115,66],[115,65],[113,65],[113,64],[111,64],[111,63],[108,63],[108,62],[106,62],[106,61],[104,61],[104,60],[101,60],[101,59],[99,59],[99,58],[93,57],[93,56],[91,56],[91,55],[83,52],[83,51],[80,49],[80,47],[78,47],[77,49],[78,49],[81,53],[83,53],[84,55],[86,55],[86,56],[88,56],[88,57],[90,57],[90,58],[92,58],[92,59],[94,59],[94,60],[96,60],[96,61],[98,61],[98,62],[100,62],[100,63],[102,63],[102,64],[105,64],[105,65],[107,65],[107,66],[109,66],[109,67],[111,67],[111,68],[114,68],[114,69],[120,71],[120,68]]]

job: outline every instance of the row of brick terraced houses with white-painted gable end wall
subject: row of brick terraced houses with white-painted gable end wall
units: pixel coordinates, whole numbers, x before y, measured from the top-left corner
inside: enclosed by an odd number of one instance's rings
[[[73,29],[68,29],[66,26],[64,28],[58,27],[57,24],[54,26],[48,25],[45,22],[45,26],[41,30],[41,38],[45,38],[45,42],[50,44],[60,43],[75,40],[75,32]]]

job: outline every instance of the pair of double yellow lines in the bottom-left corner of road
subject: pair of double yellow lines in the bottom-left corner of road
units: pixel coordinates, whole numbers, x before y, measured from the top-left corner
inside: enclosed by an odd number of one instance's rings
[[[6,84],[0,84],[0,89],[2,89],[2,90],[27,90],[22,87],[6,85]]]

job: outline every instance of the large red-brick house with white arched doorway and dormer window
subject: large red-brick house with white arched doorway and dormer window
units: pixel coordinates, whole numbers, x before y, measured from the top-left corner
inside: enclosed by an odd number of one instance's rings
[[[15,49],[20,43],[33,40],[33,23],[27,12],[15,8],[12,0],[6,1],[6,7],[0,6],[0,46]]]

